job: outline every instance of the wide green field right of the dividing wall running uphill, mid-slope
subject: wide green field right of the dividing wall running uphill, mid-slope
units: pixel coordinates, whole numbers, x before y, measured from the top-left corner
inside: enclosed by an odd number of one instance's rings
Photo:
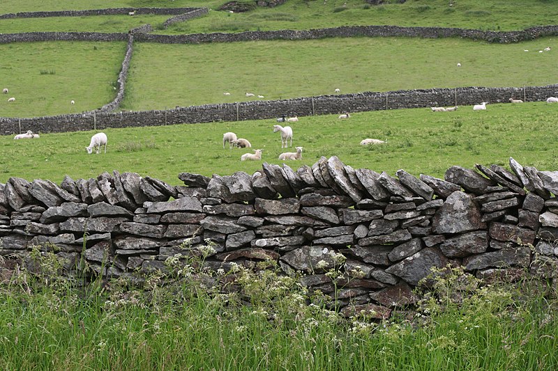
[[[165,109],[365,91],[555,83],[558,39],[332,38],[203,45],[136,43],[122,108]],[[524,52],[528,49],[529,52]],[[458,68],[458,63],[461,67]],[[229,92],[231,95],[223,95]]]

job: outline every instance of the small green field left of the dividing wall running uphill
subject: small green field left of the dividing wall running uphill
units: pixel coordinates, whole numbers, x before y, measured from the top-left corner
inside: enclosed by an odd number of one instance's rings
[[[0,97],[0,117],[79,113],[107,104],[116,95],[125,53],[125,42],[0,45],[0,84],[9,90]]]

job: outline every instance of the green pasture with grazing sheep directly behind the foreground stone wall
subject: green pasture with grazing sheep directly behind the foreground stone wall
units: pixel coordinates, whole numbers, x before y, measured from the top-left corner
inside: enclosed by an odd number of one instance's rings
[[[455,112],[404,109],[354,113],[348,120],[335,116],[301,117],[292,123],[293,146],[303,146],[301,161],[285,161],[296,169],[312,165],[321,156],[338,156],[354,168],[370,168],[390,175],[403,168],[418,176],[444,177],[450,166],[474,164],[508,167],[509,157],[541,171],[558,170],[558,104],[489,104],[486,111],[461,106]],[[211,176],[235,171],[254,173],[264,161],[282,165],[278,156],[294,152],[281,149],[275,120],[236,123],[169,125],[127,129],[103,129],[108,136],[107,154],[88,155],[94,132],[41,134],[36,140],[0,137],[0,182],[9,177],[61,182],[97,177],[114,169],[157,177],[181,184],[179,173]],[[25,129],[25,128],[22,128]],[[98,130],[101,131],[101,130]],[[264,149],[261,161],[241,161],[252,149],[223,149],[223,133],[236,132]],[[365,138],[387,140],[386,145],[361,146]]]

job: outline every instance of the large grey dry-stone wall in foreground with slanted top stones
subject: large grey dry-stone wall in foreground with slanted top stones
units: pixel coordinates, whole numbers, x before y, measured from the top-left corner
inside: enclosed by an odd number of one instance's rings
[[[40,246],[71,275],[85,246],[97,274],[141,280],[211,243],[207,267],[276,260],[326,293],[335,288],[326,272],[339,268],[341,303],[380,317],[413,303],[412,288],[448,264],[485,279],[530,272],[556,287],[558,172],[510,167],[453,166],[441,180],[322,157],[296,171],[264,163],[253,175],[181,173],[176,187],[118,171],[61,184],[12,177],[0,184],[0,273]]]

